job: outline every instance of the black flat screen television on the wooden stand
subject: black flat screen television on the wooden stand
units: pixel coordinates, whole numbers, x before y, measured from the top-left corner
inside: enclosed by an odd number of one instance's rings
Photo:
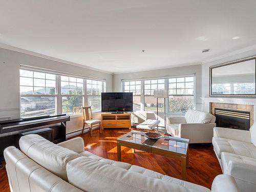
[[[101,112],[132,112],[133,93],[101,93]]]

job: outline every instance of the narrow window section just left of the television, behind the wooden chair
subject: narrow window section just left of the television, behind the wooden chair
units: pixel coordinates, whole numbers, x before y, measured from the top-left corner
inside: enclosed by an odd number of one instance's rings
[[[87,104],[91,106],[92,112],[101,111],[101,92],[103,92],[103,81],[87,79]]]

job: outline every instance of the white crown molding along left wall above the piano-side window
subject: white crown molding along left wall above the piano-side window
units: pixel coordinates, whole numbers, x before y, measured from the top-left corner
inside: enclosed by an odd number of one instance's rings
[[[11,50],[11,51],[16,51],[16,52],[24,53],[24,54],[27,54],[27,55],[32,55],[32,56],[35,56],[35,57],[40,57],[40,58],[44,58],[44,59],[48,59],[48,60],[62,62],[62,63],[68,64],[68,65],[72,65],[72,66],[76,66],[76,67],[81,67],[81,68],[85,68],[85,69],[89,69],[89,70],[94,70],[94,71],[98,71],[98,72],[101,72],[101,73],[108,73],[108,74],[113,75],[113,73],[109,72],[109,71],[104,71],[104,70],[100,70],[100,69],[97,69],[97,68],[93,68],[93,67],[89,67],[89,66],[84,66],[84,65],[79,64],[79,63],[75,63],[75,62],[59,59],[59,58],[56,58],[56,57],[51,57],[51,56],[48,56],[48,55],[43,55],[43,54],[40,54],[40,53],[36,53],[36,52],[33,52],[33,51],[28,51],[28,50],[25,50],[25,49],[9,46],[9,45],[2,44],[2,43],[0,43],[0,48],[8,49],[8,50]]]

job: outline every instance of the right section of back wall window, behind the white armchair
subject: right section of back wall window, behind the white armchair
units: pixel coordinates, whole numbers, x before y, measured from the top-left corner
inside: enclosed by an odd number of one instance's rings
[[[194,108],[194,76],[170,78],[169,87],[169,113],[184,114],[188,109]]]

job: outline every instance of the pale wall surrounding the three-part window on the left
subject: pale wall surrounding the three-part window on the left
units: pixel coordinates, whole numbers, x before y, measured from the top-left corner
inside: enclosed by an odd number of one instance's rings
[[[106,79],[106,91],[112,91],[112,74],[103,73],[83,67],[68,65],[45,58],[40,58],[16,51],[0,48],[0,118],[19,118],[19,66],[27,65],[82,76],[98,77]],[[91,66],[93,67],[93,66]],[[99,118],[99,115],[96,115]],[[82,126],[81,116],[72,117],[68,122],[68,130],[75,131]]]

